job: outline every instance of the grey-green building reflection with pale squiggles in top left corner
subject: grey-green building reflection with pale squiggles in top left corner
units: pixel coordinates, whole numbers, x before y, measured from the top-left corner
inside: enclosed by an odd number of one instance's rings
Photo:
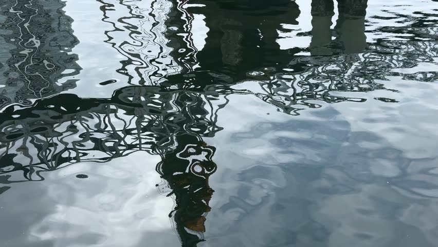
[[[71,54],[78,40],[72,34],[71,18],[62,10],[65,3],[55,1],[8,1],[1,13],[0,108],[10,103],[30,104],[75,87],[75,80],[61,78],[77,75],[77,55]]]

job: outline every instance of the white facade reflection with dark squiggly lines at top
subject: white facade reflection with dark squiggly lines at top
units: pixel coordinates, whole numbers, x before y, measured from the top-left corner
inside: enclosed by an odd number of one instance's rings
[[[165,33],[172,30],[166,21],[175,12],[167,0],[146,1],[99,0],[105,30],[104,42],[116,49],[124,60],[116,71],[126,76],[127,84],[156,85],[162,77],[181,71]]]

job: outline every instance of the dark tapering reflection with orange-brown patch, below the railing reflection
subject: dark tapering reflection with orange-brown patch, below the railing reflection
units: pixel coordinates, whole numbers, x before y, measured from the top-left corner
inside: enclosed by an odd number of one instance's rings
[[[216,149],[191,135],[177,138],[177,149],[165,155],[157,171],[175,195],[176,207],[171,214],[182,246],[191,247],[203,241],[206,231],[205,215],[211,210],[214,192],[208,179],[217,169],[212,161]]]

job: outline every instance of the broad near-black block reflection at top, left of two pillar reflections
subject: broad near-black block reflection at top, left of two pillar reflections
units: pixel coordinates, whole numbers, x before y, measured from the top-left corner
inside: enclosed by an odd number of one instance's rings
[[[203,7],[188,12],[206,16],[209,28],[205,47],[197,54],[200,69],[229,75],[233,82],[251,70],[284,66],[296,50],[282,50],[276,42],[282,24],[298,24],[293,1],[193,1]]]

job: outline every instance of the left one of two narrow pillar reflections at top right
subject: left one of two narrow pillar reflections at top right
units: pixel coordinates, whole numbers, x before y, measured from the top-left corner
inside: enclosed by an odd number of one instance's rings
[[[312,1],[312,41],[311,54],[323,56],[332,54],[328,47],[332,41],[332,17],[334,15],[333,0]]]

